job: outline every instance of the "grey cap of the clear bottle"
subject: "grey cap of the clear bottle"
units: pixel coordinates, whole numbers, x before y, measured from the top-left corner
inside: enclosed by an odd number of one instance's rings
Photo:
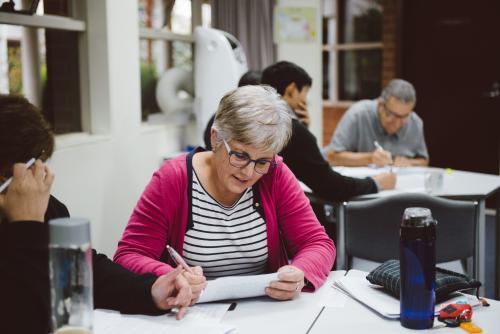
[[[49,221],[50,246],[79,248],[90,244],[90,222],[84,218]]]

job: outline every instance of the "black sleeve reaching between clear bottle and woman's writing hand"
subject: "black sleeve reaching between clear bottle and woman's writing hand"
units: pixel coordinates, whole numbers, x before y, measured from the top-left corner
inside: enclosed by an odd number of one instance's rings
[[[151,298],[152,274],[137,275],[93,250],[94,307],[122,313],[162,314]]]

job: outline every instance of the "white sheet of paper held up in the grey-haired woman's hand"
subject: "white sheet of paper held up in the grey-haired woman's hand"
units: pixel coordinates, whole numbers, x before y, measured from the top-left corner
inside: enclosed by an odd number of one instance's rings
[[[207,282],[198,303],[264,296],[269,283],[277,279],[277,273],[220,277]]]

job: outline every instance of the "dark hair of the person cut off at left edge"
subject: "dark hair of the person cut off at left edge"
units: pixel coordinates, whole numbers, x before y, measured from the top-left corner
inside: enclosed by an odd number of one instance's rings
[[[0,173],[31,158],[47,160],[54,150],[54,133],[40,110],[22,96],[0,94]]]

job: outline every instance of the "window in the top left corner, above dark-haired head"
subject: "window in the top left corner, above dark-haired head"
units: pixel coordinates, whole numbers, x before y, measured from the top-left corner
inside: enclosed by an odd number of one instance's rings
[[[14,3],[16,10],[31,5]],[[0,93],[26,96],[58,134],[83,128],[79,43],[85,22],[77,19],[82,12],[78,6],[69,0],[44,0],[36,15],[0,16],[0,63],[7,64],[0,65]]]

